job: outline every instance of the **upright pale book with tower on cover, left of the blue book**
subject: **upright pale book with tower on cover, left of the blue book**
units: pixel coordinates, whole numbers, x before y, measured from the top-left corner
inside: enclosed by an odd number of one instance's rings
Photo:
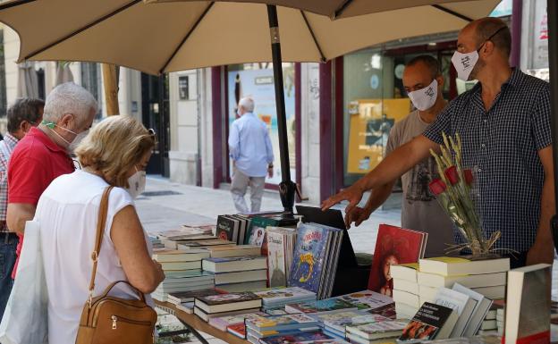
[[[269,287],[284,287],[289,281],[297,232],[293,228],[267,227]]]

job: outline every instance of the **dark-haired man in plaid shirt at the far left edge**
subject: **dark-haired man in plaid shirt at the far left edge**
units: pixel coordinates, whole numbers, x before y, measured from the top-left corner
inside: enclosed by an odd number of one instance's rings
[[[0,320],[12,291],[12,270],[15,264],[17,234],[6,227],[6,208],[8,206],[8,161],[13,148],[31,127],[38,126],[43,120],[43,106],[40,99],[20,98],[8,109],[8,132],[0,141]]]

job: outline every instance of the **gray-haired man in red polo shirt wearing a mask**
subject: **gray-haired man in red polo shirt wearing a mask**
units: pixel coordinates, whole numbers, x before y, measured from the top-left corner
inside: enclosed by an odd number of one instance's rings
[[[35,216],[38,198],[56,177],[72,173],[70,152],[85,137],[97,113],[97,101],[85,89],[67,82],[47,96],[43,122],[13,150],[8,165],[8,229],[18,233],[19,257],[25,222]],[[15,278],[17,262],[12,276]]]

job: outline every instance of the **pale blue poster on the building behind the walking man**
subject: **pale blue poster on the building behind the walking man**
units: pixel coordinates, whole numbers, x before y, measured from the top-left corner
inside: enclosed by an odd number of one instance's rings
[[[285,114],[287,119],[287,139],[289,143],[289,162],[291,164],[291,180],[295,181],[295,107],[294,107],[294,67],[283,65],[283,83],[285,98]],[[273,69],[255,69],[229,71],[228,73],[229,126],[236,120],[238,101],[249,96],[254,99],[254,114],[266,123],[269,138],[273,146],[275,162],[274,176],[266,177],[266,183],[278,185],[281,182],[281,163],[279,155],[279,134],[277,129],[277,111],[275,108],[275,88]],[[232,173],[232,162],[230,162]]]

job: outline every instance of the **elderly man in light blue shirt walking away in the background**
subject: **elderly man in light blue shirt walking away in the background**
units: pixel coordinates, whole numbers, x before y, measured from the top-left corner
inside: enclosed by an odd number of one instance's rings
[[[244,97],[238,104],[239,119],[232,122],[229,151],[232,158],[231,193],[241,214],[257,213],[264,195],[266,174],[273,177],[274,154],[265,122],[254,114],[254,100]],[[250,187],[250,210],[244,200]]]

